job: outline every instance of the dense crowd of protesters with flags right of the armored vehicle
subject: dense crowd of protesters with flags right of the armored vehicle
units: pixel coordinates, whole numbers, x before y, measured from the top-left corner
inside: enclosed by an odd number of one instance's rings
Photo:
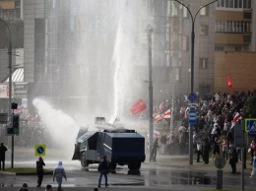
[[[197,162],[202,159],[205,164],[208,164],[209,160],[214,161],[222,155],[229,162],[231,173],[236,173],[236,162],[241,159],[241,148],[234,145],[233,126],[235,121],[241,119],[241,109],[245,100],[250,96],[256,95],[252,92],[235,92],[231,95],[217,93],[207,96],[197,94],[197,100],[194,102],[197,122],[195,125],[190,125],[193,130],[193,146],[195,154],[197,154]],[[155,113],[165,112],[171,107],[170,102],[168,99],[160,102],[158,106],[154,107]],[[161,153],[171,154],[176,149],[179,154],[182,154],[182,151],[188,149],[190,130],[187,115],[190,109],[188,103],[187,96],[174,98],[173,119],[179,121],[180,123],[177,124],[180,125],[168,135],[162,131],[160,135]],[[167,129],[169,129],[169,124],[167,124]],[[256,152],[255,137],[248,135],[248,138],[249,144],[244,154],[246,159],[246,154],[250,153],[251,165],[253,165],[254,153]],[[187,151],[183,154],[185,153],[187,154]]]

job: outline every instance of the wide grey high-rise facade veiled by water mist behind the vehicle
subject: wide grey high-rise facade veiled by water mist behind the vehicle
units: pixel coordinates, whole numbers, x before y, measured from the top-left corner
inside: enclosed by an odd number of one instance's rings
[[[208,3],[182,2],[193,16]],[[214,86],[215,8],[202,9],[194,26],[194,90],[203,94]],[[172,0],[25,0],[24,20],[31,99],[47,97],[72,112],[100,113],[98,104],[127,112],[139,97],[148,101],[150,59],[154,102],[173,87],[176,94],[190,93],[192,19]]]

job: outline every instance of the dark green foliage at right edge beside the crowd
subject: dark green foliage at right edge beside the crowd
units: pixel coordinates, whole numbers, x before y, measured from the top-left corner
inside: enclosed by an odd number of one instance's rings
[[[256,96],[250,96],[242,108],[243,118],[256,118]]]

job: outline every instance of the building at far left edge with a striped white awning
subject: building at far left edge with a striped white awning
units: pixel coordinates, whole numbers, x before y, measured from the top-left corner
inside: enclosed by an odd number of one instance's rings
[[[16,95],[17,83],[23,82],[23,22],[21,0],[0,1],[0,110],[9,110],[9,64],[12,64],[13,95]],[[8,49],[12,44],[12,61]],[[16,101],[16,100],[14,100]]]

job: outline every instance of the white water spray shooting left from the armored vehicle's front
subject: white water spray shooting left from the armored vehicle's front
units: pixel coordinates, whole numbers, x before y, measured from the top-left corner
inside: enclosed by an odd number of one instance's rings
[[[50,139],[55,148],[64,148],[63,157],[71,159],[74,154],[74,144],[79,126],[75,120],[61,110],[53,108],[47,101],[35,98],[32,101],[38,111],[45,128],[50,132]]]

